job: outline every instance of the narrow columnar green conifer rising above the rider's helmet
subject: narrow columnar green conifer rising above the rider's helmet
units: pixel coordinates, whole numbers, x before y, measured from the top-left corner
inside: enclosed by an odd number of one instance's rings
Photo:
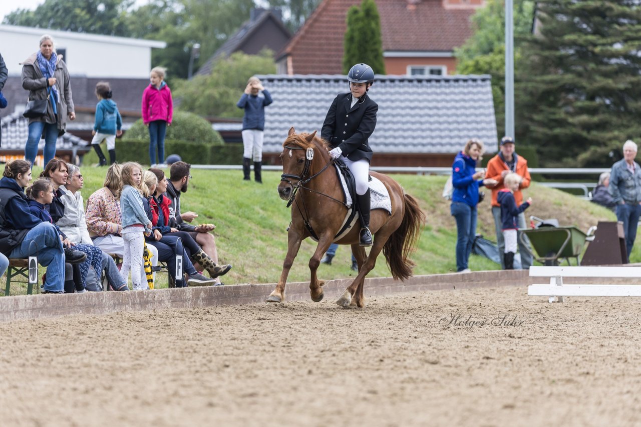
[[[376,74],[385,74],[381,18],[374,0],[363,0],[360,8],[351,6],[347,11],[343,72],[356,63],[366,63]]]

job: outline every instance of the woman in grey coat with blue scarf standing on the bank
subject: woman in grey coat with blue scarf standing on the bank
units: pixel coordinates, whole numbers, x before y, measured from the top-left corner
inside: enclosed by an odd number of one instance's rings
[[[56,140],[65,133],[67,118],[76,118],[67,65],[62,55],[56,54],[51,36],[40,37],[40,51],[22,62],[22,88],[29,91],[29,100],[49,97],[47,113],[43,117],[29,118],[29,136],[24,147],[24,158],[33,165],[38,143],[44,136],[46,165],[56,156]]]

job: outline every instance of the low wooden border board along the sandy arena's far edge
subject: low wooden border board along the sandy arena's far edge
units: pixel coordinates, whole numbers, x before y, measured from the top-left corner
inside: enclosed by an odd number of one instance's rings
[[[328,280],[320,303],[333,303],[351,279]],[[443,275],[415,276],[405,282],[392,278],[365,279],[365,296],[471,287],[526,286],[531,284],[528,271],[474,271]],[[108,314],[113,312],[191,309],[215,305],[264,303],[275,284],[154,289],[151,291],[97,292],[83,294],[38,294],[0,298],[0,321],[49,318],[67,314]],[[525,291],[525,289],[524,289]],[[309,282],[287,284],[285,303],[310,301]],[[337,307],[338,309],[338,307]]]

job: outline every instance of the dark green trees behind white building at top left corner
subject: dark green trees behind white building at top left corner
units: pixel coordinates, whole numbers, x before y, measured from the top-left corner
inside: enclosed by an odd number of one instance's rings
[[[126,36],[124,17],[133,0],[45,0],[35,10],[9,13],[3,24]]]

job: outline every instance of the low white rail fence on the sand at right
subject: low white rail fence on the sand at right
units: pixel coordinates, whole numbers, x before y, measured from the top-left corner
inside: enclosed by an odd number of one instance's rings
[[[641,285],[638,284],[563,284],[564,277],[638,279],[641,278],[641,267],[532,266],[529,275],[549,277],[549,284],[528,286],[528,295],[549,296],[549,302],[563,302],[564,296],[641,296]]]

